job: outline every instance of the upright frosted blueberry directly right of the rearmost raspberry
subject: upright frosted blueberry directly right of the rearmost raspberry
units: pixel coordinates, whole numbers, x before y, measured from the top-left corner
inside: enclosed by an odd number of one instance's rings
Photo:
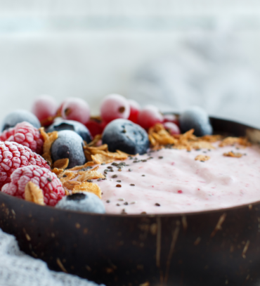
[[[53,162],[63,158],[69,158],[68,168],[86,163],[83,151],[83,139],[74,131],[58,131],[58,138],[51,145],[51,157]]]

